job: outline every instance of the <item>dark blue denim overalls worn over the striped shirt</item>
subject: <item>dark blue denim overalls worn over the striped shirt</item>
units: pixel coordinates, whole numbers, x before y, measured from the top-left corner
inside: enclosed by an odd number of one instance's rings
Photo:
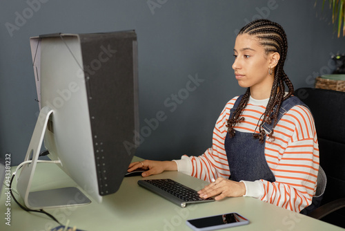
[[[243,95],[240,95],[239,98],[237,98],[234,107],[230,109],[230,118],[238,107],[242,96]],[[295,105],[303,105],[306,107],[306,104],[295,96],[291,96],[290,98],[284,100],[279,109],[277,122]],[[273,122],[271,124],[264,123],[263,128],[270,133],[270,131],[273,130]],[[271,183],[275,181],[275,176],[268,167],[265,158],[266,137],[267,136],[264,137],[264,142],[260,143],[258,139],[253,137],[253,133],[235,131],[235,136],[233,138],[230,138],[228,133],[226,134],[224,145],[231,174],[229,178],[230,180],[238,182],[257,181],[263,179]]]

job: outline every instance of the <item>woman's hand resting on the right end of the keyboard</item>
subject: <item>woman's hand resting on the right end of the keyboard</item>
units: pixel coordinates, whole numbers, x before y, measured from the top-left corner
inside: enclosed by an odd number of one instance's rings
[[[246,194],[246,186],[243,182],[230,181],[219,177],[204,189],[198,192],[200,197],[208,198],[215,196],[215,200],[221,200],[226,196],[243,196]]]

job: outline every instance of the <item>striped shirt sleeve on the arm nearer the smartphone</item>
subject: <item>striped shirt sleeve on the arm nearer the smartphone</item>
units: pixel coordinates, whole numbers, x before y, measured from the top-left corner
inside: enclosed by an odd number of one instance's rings
[[[292,130],[284,134],[288,138],[285,140],[287,145],[277,147],[279,141],[266,140],[266,161],[275,175],[275,182],[244,181],[245,196],[300,212],[311,205],[316,191],[319,170],[317,134],[313,116],[306,107],[295,106],[283,116],[282,123],[275,128],[275,139],[284,137],[279,136],[279,132],[283,132],[282,127],[287,124]]]

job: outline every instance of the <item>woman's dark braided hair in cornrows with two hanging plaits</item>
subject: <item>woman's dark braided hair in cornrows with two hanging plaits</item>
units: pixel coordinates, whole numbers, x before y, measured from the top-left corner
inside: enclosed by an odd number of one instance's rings
[[[259,44],[264,46],[266,54],[277,52],[280,55],[279,62],[277,63],[277,66],[275,66],[273,86],[270,91],[270,98],[268,100],[266,111],[261,116],[262,122],[260,122],[260,120],[257,122],[259,133],[254,133],[253,135],[254,138],[259,138],[259,142],[264,142],[264,136],[266,133],[262,128],[262,125],[264,122],[268,124],[274,122],[274,128],[277,124],[277,115],[279,114],[282,102],[293,94],[293,84],[284,72],[284,62],[288,51],[288,41],[282,26],[268,19],[258,19],[250,22],[239,31],[239,35],[242,34],[257,37],[257,39],[259,39]],[[288,93],[286,95],[284,92],[285,84],[288,86]],[[246,93],[243,95],[239,106],[233,113],[232,117],[227,121],[226,127],[228,127],[230,137],[235,136],[235,124],[244,121],[242,112],[248,103],[249,96],[250,90],[248,88]],[[273,113],[273,109],[275,109],[275,107],[277,107],[277,109]],[[273,130],[268,134],[268,136],[270,138],[274,138]]]

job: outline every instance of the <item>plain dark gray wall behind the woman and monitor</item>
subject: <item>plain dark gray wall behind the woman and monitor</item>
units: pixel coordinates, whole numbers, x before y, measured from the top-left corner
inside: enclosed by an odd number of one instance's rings
[[[29,37],[135,29],[141,128],[157,112],[166,114],[157,128],[143,129],[146,137],[137,156],[168,160],[204,152],[211,145],[213,126],[224,104],[244,91],[231,65],[235,33],[248,21],[268,18],[286,29],[286,73],[296,89],[313,86],[320,73],[331,73],[330,54],[344,53],[345,39],[333,33],[330,10],[322,12],[314,2],[2,1],[0,156],[12,154],[12,164],[20,163],[37,119]],[[191,77],[200,82],[188,91]],[[179,95],[176,102],[173,95]]]

